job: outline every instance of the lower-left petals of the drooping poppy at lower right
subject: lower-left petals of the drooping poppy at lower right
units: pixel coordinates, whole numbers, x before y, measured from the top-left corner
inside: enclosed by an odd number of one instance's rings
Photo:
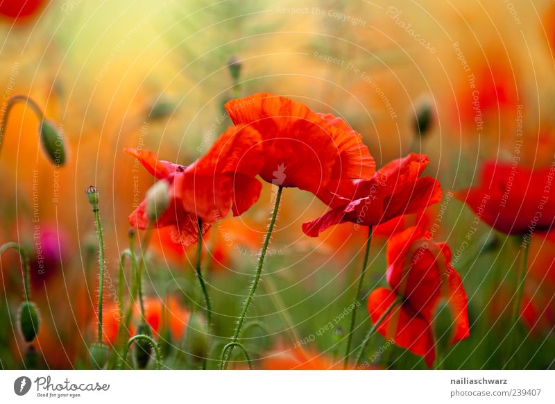
[[[382,317],[396,298],[395,292],[384,287],[379,287],[370,294],[368,312],[373,323]],[[393,339],[395,345],[407,348],[412,353],[424,357],[428,367],[432,367],[434,364],[436,351],[432,326],[411,310],[409,305],[397,303],[377,330],[385,339]]]

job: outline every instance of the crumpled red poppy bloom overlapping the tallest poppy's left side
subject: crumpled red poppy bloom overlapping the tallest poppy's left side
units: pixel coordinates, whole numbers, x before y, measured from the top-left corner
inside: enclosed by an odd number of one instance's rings
[[[262,184],[255,176],[262,167],[260,136],[252,128],[232,126],[196,162],[184,167],[158,161],[150,151],[124,149],[158,180],[169,183],[169,208],[157,218],[157,228],[171,226],[173,242],[185,246],[198,241],[197,219],[203,234],[231,209],[245,212],[258,199]],[[129,216],[131,226],[148,226],[146,201]]]

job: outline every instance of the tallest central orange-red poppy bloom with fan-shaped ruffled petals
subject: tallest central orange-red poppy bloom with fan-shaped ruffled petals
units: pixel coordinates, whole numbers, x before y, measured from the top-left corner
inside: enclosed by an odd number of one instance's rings
[[[312,112],[283,96],[254,94],[225,104],[234,124],[262,136],[268,183],[316,193],[330,180],[370,178],[375,162],[362,137],[330,114]]]

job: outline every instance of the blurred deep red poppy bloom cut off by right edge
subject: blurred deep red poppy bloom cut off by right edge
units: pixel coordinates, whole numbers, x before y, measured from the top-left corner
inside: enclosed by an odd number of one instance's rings
[[[555,224],[555,199],[549,198],[555,166],[530,169],[486,162],[480,183],[456,193],[493,228],[509,235],[548,232]]]

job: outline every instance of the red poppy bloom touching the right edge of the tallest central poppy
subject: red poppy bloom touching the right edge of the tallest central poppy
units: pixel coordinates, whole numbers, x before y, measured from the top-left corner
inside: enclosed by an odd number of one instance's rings
[[[331,209],[302,224],[302,231],[317,237],[326,228],[345,221],[375,226],[403,214],[422,212],[441,200],[438,180],[420,178],[428,162],[427,156],[411,153],[389,162],[369,180],[341,181],[335,184],[334,192],[318,192]]]

